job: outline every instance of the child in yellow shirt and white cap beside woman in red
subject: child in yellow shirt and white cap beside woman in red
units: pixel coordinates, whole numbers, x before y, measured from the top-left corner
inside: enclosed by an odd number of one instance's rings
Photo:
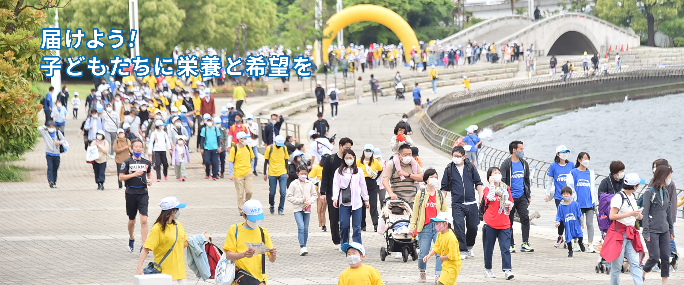
[[[442,274],[439,275],[438,285],[456,285],[461,271],[461,254],[458,239],[451,228],[453,218],[447,212],[440,212],[430,221],[436,222],[435,230],[439,233],[430,254],[423,258],[423,262],[428,262],[430,257],[438,254],[438,258],[442,260]]]

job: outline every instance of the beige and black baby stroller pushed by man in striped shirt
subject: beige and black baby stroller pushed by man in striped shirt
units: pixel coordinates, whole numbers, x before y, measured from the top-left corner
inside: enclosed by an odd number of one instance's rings
[[[387,247],[380,248],[380,260],[384,261],[390,252],[401,252],[404,262],[418,258],[418,243],[411,237],[408,223],[411,219],[411,208],[403,198],[391,200],[386,198],[382,201],[381,218],[384,220],[384,230],[380,228]],[[382,227],[382,226],[381,226]]]

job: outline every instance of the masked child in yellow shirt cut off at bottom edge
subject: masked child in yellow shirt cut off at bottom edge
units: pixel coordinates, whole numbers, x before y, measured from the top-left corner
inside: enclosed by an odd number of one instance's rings
[[[349,268],[342,271],[337,285],[384,285],[378,269],[363,264],[366,249],[360,243],[345,243],[341,247],[347,253]]]

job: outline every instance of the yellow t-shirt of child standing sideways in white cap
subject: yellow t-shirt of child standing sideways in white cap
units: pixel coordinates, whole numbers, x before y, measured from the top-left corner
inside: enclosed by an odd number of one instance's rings
[[[442,275],[439,276],[439,282],[456,285],[458,273],[461,271],[461,254],[458,249],[458,239],[456,239],[456,234],[453,234],[453,230],[449,230],[446,234],[438,233],[432,250],[440,256],[449,256],[449,260],[442,261]]]

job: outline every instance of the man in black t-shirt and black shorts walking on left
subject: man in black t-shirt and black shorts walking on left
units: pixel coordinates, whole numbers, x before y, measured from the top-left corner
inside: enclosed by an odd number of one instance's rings
[[[147,239],[147,206],[150,199],[147,187],[152,186],[152,172],[150,172],[152,163],[141,157],[142,148],[142,141],[131,141],[133,155],[121,163],[119,172],[119,180],[126,183],[126,214],[129,216],[129,252],[133,252],[133,245],[135,245],[133,229],[135,229],[135,214],[137,212],[140,212],[140,238],[143,245]],[[140,247],[140,250],[142,251],[142,247]]]

